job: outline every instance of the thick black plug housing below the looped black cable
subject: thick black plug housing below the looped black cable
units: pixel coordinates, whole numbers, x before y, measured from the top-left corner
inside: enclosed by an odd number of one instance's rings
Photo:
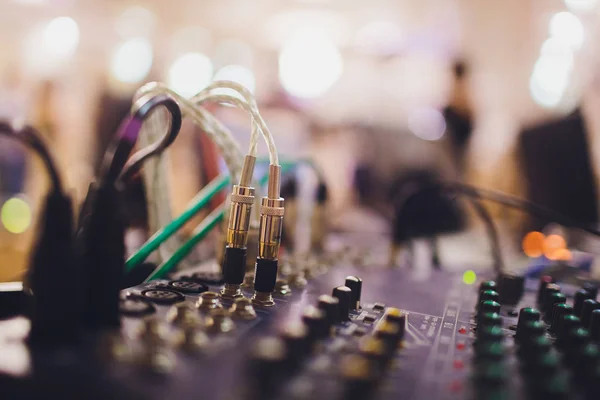
[[[78,263],[85,274],[83,323],[87,330],[120,326],[119,293],[124,279],[125,215],[123,189],[92,184],[80,216]]]

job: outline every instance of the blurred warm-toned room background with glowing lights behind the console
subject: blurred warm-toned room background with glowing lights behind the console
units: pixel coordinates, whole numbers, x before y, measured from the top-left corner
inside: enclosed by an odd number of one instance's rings
[[[389,221],[405,184],[433,179],[499,189],[594,223],[598,6],[2,0],[0,118],[43,132],[81,201],[137,88],[164,81],[187,96],[229,79],[255,94],[282,158],[309,157],[323,171],[332,230],[393,233]],[[245,147],[248,117],[213,111]],[[169,152],[177,213],[224,167],[191,124]],[[0,280],[18,279],[25,265],[46,185],[37,159],[0,141]],[[131,224],[143,227],[136,193]],[[471,212],[449,207],[440,218],[448,224],[434,228],[470,234],[471,249],[485,243]],[[526,232],[545,229],[528,216],[490,210],[509,252],[520,253]],[[442,251],[459,254],[456,262],[477,253],[449,240]]]

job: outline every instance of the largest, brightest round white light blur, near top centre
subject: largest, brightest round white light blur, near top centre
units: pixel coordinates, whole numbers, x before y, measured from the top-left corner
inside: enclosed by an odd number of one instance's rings
[[[342,56],[327,36],[298,31],[279,53],[279,80],[293,96],[316,98],[329,90],[343,72]]]

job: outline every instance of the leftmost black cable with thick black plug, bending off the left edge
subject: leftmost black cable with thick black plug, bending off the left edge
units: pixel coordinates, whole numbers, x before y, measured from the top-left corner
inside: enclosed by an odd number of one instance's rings
[[[73,207],[65,193],[56,164],[30,126],[13,128],[0,122],[0,135],[33,150],[43,161],[51,186],[41,207],[35,242],[24,277],[31,320],[29,342],[33,346],[55,346],[71,342],[80,326],[78,269],[73,257]]]

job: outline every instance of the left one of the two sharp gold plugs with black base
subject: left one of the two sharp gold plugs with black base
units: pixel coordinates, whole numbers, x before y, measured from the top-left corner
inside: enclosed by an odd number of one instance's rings
[[[250,217],[254,204],[254,188],[251,185],[256,157],[244,158],[240,184],[233,186],[229,223],[227,225],[225,254],[223,256],[223,278],[225,286],[221,290],[224,298],[242,296],[240,289],[246,273],[246,245]]]

